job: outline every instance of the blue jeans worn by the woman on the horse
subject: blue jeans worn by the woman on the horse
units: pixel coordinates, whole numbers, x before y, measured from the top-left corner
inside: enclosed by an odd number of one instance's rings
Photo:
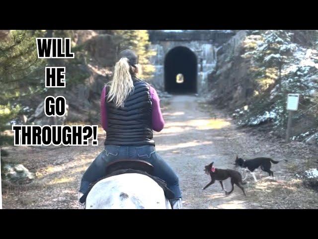
[[[106,165],[121,159],[140,159],[154,166],[154,176],[167,183],[167,187],[174,193],[175,198],[181,198],[179,179],[172,168],[159,156],[155,146],[119,146],[105,145],[105,149],[96,157],[85,171],[79,192],[85,193],[90,183],[105,176]]]

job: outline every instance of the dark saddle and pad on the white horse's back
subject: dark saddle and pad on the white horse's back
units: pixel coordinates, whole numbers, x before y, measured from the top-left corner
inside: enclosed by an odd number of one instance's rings
[[[86,198],[93,186],[98,183],[100,180],[103,180],[108,177],[125,174],[125,173],[139,173],[144,174],[152,178],[158,185],[162,188],[164,196],[169,200],[175,198],[174,193],[167,187],[166,182],[161,180],[159,177],[154,176],[154,166],[144,160],[134,160],[134,159],[124,159],[118,160],[106,165],[106,176],[99,178],[95,182],[91,183],[88,186],[88,190],[83,196],[79,199],[80,203],[85,203]]]

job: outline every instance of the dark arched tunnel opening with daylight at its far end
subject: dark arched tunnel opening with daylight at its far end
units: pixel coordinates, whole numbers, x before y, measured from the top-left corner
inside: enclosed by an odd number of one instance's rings
[[[164,90],[197,93],[197,57],[187,47],[171,49],[164,59]]]

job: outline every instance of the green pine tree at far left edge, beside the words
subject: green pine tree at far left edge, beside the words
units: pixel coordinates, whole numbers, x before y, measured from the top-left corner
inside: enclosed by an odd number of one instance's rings
[[[3,131],[20,111],[17,99],[42,92],[39,73],[45,61],[37,58],[35,38],[41,31],[11,30],[0,39],[0,145],[10,140]]]

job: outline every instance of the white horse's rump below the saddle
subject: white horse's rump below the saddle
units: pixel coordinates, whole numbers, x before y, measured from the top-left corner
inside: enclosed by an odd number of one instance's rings
[[[97,182],[85,209],[171,209],[163,189],[144,174],[126,173]]]

